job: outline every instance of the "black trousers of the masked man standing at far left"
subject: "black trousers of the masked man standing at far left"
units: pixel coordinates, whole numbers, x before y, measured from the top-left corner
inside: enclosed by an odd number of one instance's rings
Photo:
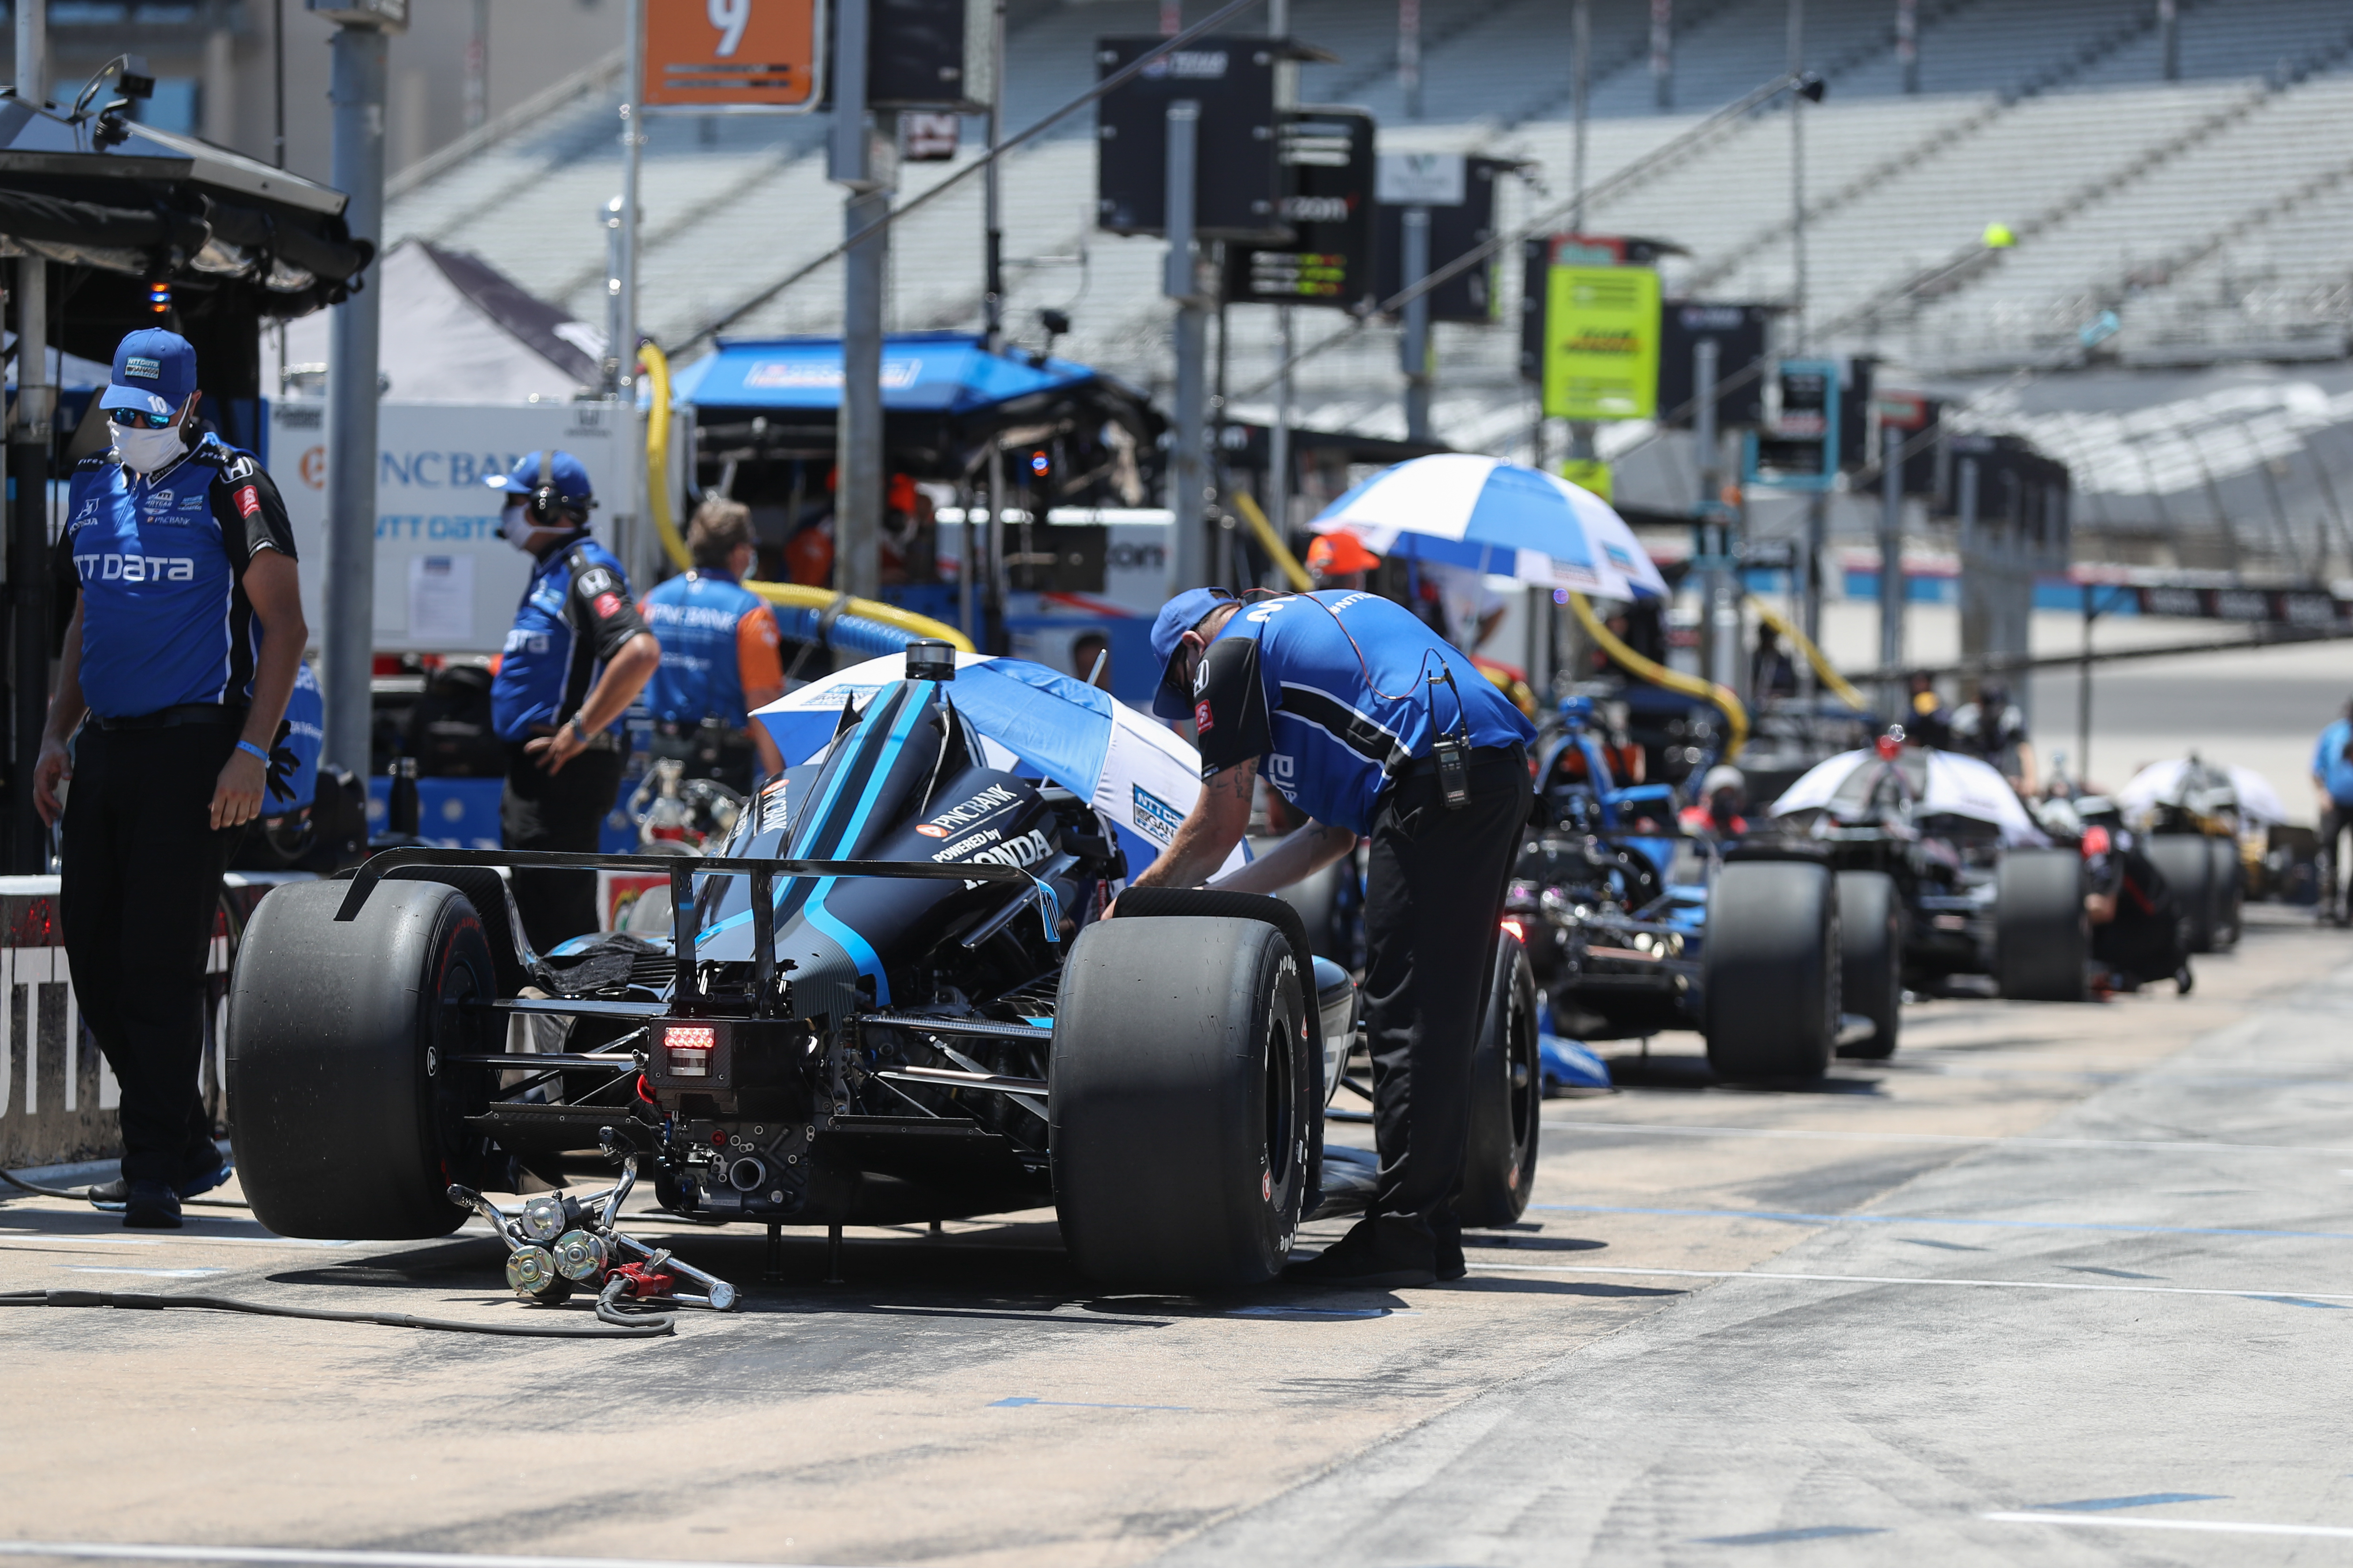
[[[221,872],[245,837],[212,827],[238,724],[82,729],[59,903],[66,964],[122,1086],[122,1178],[179,1182],[221,1164],[198,1091],[205,957]]]

